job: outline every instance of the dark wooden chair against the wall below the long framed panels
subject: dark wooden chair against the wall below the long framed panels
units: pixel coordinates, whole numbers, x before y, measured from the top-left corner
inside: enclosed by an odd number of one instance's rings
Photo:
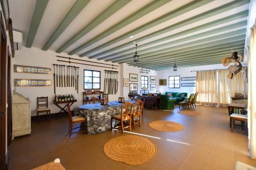
[[[39,120],[45,120],[49,119],[50,120],[50,114],[51,114],[51,109],[48,108],[48,96],[47,97],[37,97],[37,122]],[[39,113],[41,112],[46,112],[46,118],[39,118]]]

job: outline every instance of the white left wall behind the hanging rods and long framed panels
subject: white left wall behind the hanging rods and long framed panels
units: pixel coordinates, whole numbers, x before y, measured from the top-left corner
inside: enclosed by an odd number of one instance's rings
[[[74,103],[73,106],[80,106],[82,104],[82,92],[83,89],[83,69],[92,69],[92,70],[99,70],[101,71],[101,91],[103,91],[103,84],[104,84],[104,76],[105,72],[104,70],[112,70],[110,68],[102,68],[102,67],[95,67],[95,66],[87,66],[87,65],[81,65],[81,64],[69,64],[65,62],[59,62],[56,61],[57,59],[60,59],[56,57],[56,55],[59,56],[65,56],[70,57],[65,53],[57,54],[53,51],[42,51],[39,48],[31,47],[27,48],[25,46],[22,47],[22,50],[16,51],[16,55],[13,58],[12,64],[18,64],[18,65],[29,65],[29,66],[40,66],[40,67],[50,67],[52,68],[52,74],[51,75],[39,75],[39,74],[23,74],[23,73],[16,73],[12,72],[12,78],[13,79],[51,79],[52,80],[52,86],[50,87],[16,87],[16,91],[22,95],[24,95],[26,98],[29,98],[31,101],[31,115],[36,115],[36,98],[37,96],[48,96],[49,97],[49,107],[51,108],[51,113],[56,113],[59,111],[59,108],[53,104],[54,99],[54,87],[53,87],[53,65],[52,64],[61,64],[61,65],[72,65],[79,67],[79,90],[78,94],[75,90],[75,87],[56,87],[56,94],[74,94],[75,99],[77,99],[77,103]],[[73,58],[79,58],[80,57],[73,55]],[[90,60],[90,61],[97,61],[100,63],[109,63],[110,62],[104,62],[104,61],[98,61],[96,59],[88,59],[86,57],[82,58],[84,60]],[[65,60],[65,59],[61,59]],[[67,60],[67,59],[66,59]],[[76,61],[75,61],[76,62]],[[79,62],[79,61],[78,61]],[[81,61],[82,62],[82,61]],[[85,62],[84,62],[85,63]],[[93,63],[88,63],[93,64]],[[97,65],[97,64],[94,64]],[[115,64],[119,65],[119,64]],[[106,65],[104,65],[106,66]],[[12,65],[13,67],[13,65]],[[12,68],[13,70],[13,68]],[[122,79],[120,76],[120,67],[118,69],[114,69],[115,71],[119,71],[119,89],[122,87]],[[12,89],[14,89],[14,82],[12,82]],[[110,101],[118,100],[118,97],[121,95],[121,90],[118,90],[117,94],[109,95]],[[97,96],[95,96],[97,97]]]

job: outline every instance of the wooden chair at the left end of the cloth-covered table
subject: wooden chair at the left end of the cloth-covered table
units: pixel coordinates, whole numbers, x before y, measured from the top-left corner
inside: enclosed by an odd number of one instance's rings
[[[68,107],[68,113],[69,113],[69,132],[68,132],[69,136],[71,136],[71,134],[73,134],[73,133],[85,132],[85,130],[83,130],[83,129],[84,129],[84,125],[86,123],[86,118],[84,118],[81,115],[72,116],[69,104],[67,104],[67,107]],[[80,123],[81,126],[73,128],[73,125],[77,124],[77,123]],[[77,128],[82,128],[82,131],[72,132],[72,130],[77,129]]]

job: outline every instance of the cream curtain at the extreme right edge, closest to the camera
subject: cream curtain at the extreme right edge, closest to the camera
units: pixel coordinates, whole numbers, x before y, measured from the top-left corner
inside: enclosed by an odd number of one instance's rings
[[[248,64],[248,147],[250,158],[256,158],[256,24],[251,28],[250,47],[249,47],[249,64]]]

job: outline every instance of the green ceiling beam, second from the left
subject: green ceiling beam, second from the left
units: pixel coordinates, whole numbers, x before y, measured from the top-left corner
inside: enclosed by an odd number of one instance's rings
[[[53,32],[51,37],[48,39],[42,50],[47,51],[49,47],[56,41],[56,39],[60,36],[61,33],[70,25],[70,23],[75,19],[75,17],[82,11],[84,7],[91,0],[76,0],[73,6],[70,8],[69,12],[62,19],[57,29]]]

